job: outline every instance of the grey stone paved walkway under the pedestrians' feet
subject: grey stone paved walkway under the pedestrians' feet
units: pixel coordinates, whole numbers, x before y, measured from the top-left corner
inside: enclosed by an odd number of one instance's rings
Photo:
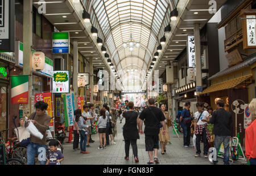
[[[139,140],[137,140],[138,145],[138,158],[139,163],[135,163],[130,149],[130,160],[126,161],[125,157],[125,141],[122,141],[122,126],[124,123],[117,123],[117,144],[110,144],[106,149],[99,150],[98,145],[100,145],[98,134],[92,135],[92,139],[95,140],[94,143],[90,143],[91,147],[87,148],[86,151],[91,153],[81,154],[80,151],[73,152],[73,144],[64,144],[64,161],[61,164],[71,164],[71,165],[144,165],[148,162],[148,154],[145,151],[144,135],[140,135]],[[143,127],[144,129],[144,127]],[[167,144],[167,153],[161,154],[158,151],[158,158],[160,164],[163,165],[210,165],[210,162],[203,157],[195,158],[195,149],[188,147],[183,147],[183,136],[180,134],[180,139],[172,132],[172,127],[169,127],[170,138],[172,144]],[[67,140],[67,139],[66,139]],[[192,138],[191,138],[192,141]],[[80,145],[79,145],[80,146]],[[201,143],[201,151],[203,151],[203,143]],[[222,165],[222,158],[218,158],[218,164]],[[233,164],[241,164],[241,162],[234,162]]]

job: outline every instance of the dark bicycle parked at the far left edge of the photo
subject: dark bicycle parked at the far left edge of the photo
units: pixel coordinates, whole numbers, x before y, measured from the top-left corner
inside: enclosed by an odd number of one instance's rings
[[[6,130],[2,130],[0,131],[0,144],[4,144],[5,146],[5,158],[6,160],[6,164],[7,165],[24,165],[24,162],[22,160],[20,160],[19,158],[14,158],[13,154],[14,152],[14,146],[15,144],[11,143],[11,139],[12,138],[7,138],[7,140],[10,140],[10,144],[6,143],[5,138],[3,137],[3,132],[9,131],[9,129]],[[9,147],[10,145],[10,149],[7,149],[7,147]]]

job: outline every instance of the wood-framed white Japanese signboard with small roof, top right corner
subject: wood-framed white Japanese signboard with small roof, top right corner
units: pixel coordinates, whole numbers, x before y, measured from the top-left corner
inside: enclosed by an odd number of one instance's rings
[[[243,9],[240,16],[242,17],[243,27],[243,49],[256,48],[256,10]]]

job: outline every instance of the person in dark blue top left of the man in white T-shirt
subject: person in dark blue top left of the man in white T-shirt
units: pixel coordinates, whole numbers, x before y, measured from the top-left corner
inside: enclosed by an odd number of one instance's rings
[[[185,102],[185,108],[181,111],[180,114],[180,126],[183,128],[183,146],[184,147],[193,147],[190,142],[191,138],[191,113],[189,108],[191,103],[189,101]]]

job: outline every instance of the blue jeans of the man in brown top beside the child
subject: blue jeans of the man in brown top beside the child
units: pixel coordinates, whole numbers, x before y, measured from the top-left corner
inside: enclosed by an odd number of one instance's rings
[[[30,143],[27,145],[27,164],[35,164],[35,153],[38,154],[40,165],[46,165],[46,145]]]

